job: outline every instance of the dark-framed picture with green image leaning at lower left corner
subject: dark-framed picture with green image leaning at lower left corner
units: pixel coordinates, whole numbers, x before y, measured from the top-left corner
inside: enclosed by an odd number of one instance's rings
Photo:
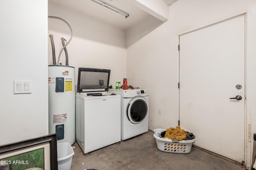
[[[57,170],[56,133],[0,146],[0,169]]]

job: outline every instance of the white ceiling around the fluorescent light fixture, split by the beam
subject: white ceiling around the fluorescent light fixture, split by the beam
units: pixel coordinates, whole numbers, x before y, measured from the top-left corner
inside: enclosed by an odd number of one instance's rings
[[[130,14],[128,18],[122,15],[118,15],[116,12],[104,8],[91,0],[48,0],[50,5],[59,6],[61,8],[77,12],[84,16],[94,18],[96,20],[102,21],[118,27],[120,29],[128,29],[135,25],[136,23],[149,17],[150,14],[141,10],[140,8],[132,5],[127,0],[104,0],[108,4],[111,4],[121,10]],[[166,4],[171,5],[177,0],[162,0]]]

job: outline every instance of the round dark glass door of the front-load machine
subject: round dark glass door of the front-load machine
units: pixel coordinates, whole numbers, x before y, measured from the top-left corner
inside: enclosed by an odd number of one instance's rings
[[[133,98],[127,107],[127,117],[134,124],[141,123],[148,114],[148,104],[142,97]]]

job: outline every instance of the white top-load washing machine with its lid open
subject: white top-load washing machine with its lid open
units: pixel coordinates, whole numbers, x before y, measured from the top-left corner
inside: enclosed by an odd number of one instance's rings
[[[79,68],[76,141],[84,153],[121,141],[120,95],[108,92],[110,70]]]

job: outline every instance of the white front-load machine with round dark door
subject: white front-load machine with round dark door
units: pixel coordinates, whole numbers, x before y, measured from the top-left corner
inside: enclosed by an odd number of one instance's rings
[[[148,131],[149,101],[147,89],[109,89],[121,96],[121,140]]]

